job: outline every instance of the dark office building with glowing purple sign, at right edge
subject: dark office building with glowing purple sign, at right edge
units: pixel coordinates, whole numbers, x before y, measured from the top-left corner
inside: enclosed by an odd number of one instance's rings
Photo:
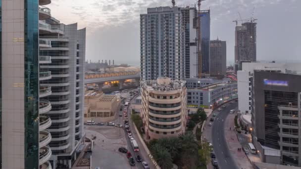
[[[300,83],[295,71],[254,71],[252,141],[262,162],[301,167]]]

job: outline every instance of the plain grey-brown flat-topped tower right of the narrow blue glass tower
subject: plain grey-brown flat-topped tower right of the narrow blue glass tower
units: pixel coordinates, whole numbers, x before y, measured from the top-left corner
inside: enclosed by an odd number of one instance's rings
[[[210,41],[210,76],[223,79],[226,75],[227,64],[226,41]]]

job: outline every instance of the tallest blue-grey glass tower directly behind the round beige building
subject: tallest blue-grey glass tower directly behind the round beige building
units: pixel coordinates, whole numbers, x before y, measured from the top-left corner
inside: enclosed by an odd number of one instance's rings
[[[168,6],[140,15],[142,80],[197,76],[196,16],[195,7]]]

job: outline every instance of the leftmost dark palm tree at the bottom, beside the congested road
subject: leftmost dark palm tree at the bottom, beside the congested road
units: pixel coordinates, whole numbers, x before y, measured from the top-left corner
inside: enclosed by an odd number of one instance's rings
[[[165,147],[162,147],[160,144],[156,143],[151,147],[153,151],[153,158],[161,167],[161,169],[171,169],[172,159],[171,155]]]

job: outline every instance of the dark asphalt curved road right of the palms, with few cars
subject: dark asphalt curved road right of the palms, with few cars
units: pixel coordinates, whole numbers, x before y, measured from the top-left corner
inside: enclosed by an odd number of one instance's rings
[[[225,120],[229,115],[230,110],[236,109],[238,103],[227,104],[220,112],[214,111],[216,117],[212,124],[212,144],[215,156],[217,158],[218,166],[220,169],[238,169],[236,163],[229,152],[229,148],[225,139]]]

